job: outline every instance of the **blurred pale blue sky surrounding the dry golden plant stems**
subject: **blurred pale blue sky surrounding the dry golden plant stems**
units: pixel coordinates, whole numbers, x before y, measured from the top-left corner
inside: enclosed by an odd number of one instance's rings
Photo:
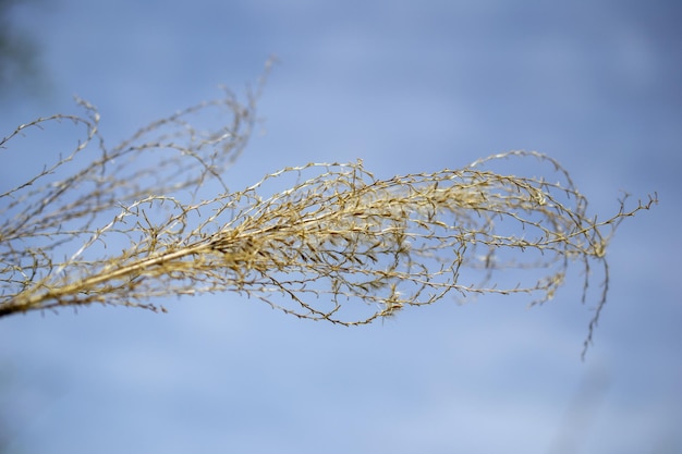
[[[679,453],[682,7],[674,1],[35,0],[12,24],[44,88],[0,134],[98,107],[109,145],[278,63],[232,187],[309,161],[377,176],[511,149],[562,162],[593,214],[657,192],[609,249],[609,303],[441,300],[348,329],[236,294],[170,314],[83,308],[0,320],[9,453]],[[0,177],[78,137],[3,150]],[[21,159],[21,161],[20,161]],[[593,303],[596,295],[593,294]]]

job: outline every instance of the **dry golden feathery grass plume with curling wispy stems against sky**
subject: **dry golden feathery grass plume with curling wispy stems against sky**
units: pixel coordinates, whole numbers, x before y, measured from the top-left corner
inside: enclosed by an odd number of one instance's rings
[[[602,267],[602,290],[585,346],[608,291],[606,248],[632,209],[605,220],[551,158],[512,151],[460,170],[376,179],[362,161],[287,168],[243,191],[224,169],[249,136],[255,100],[228,95],[151,123],[115,148],[103,145],[99,115],[56,115],[20,126],[7,148],[46,122],[85,126],[68,157],[0,195],[0,317],[99,303],[161,309],[168,295],[233,291],[296,317],[351,326],[431,304],[454,291],[550,299],[569,265]],[[223,109],[228,125],[199,131],[192,120]],[[215,116],[215,115],[214,115]],[[90,145],[99,156],[80,171],[52,174]],[[148,156],[153,165],[139,167]],[[504,159],[549,164],[555,180],[488,168]],[[218,182],[218,196],[199,189]],[[60,258],[64,255],[64,258]],[[517,272],[506,283],[502,273]]]

